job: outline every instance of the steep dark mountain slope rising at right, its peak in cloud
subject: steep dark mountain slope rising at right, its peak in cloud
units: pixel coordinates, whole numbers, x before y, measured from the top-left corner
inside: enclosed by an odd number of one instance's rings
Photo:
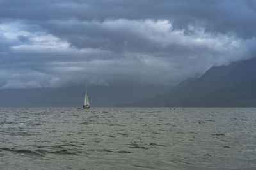
[[[255,73],[256,57],[228,66],[214,66],[199,78],[189,78],[168,92],[117,106],[256,106]]]

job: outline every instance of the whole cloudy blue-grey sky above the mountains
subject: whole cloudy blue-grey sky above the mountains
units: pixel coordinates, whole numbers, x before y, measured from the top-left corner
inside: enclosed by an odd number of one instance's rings
[[[0,0],[0,89],[177,85],[256,57],[255,0]]]

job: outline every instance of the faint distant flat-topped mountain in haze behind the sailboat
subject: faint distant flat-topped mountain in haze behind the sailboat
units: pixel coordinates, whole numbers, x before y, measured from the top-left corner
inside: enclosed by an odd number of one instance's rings
[[[87,87],[90,106],[110,107],[168,91],[170,86],[92,86]],[[1,89],[0,107],[81,107],[84,86],[35,89]]]

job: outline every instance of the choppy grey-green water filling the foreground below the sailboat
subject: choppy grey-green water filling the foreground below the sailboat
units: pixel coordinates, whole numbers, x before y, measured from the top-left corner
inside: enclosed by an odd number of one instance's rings
[[[256,169],[256,108],[0,108],[0,169]]]

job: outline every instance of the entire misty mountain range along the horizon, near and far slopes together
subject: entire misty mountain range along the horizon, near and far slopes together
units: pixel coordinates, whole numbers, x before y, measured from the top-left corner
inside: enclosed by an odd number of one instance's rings
[[[88,87],[94,107],[246,107],[256,106],[256,58],[214,66],[198,78],[170,86]],[[80,107],[84,86],[1,89],[0,106]],[[155,97],[153,97],[155,96]]]

